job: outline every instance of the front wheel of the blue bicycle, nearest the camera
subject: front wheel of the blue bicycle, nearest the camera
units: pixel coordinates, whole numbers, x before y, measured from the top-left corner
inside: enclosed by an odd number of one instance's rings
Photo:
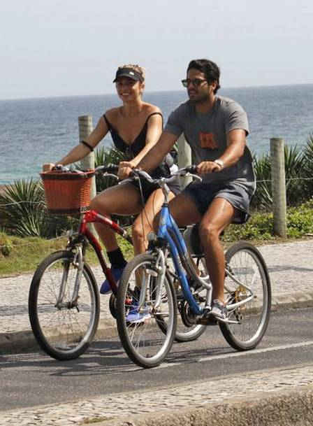
[[[168,355],[176,328],[176,298],[166,274],[156,285],[158,270],[153,255],[138,255],[124,269],[117,291],[117,329],[124,350],[140,367],[157,367]],[[145,287],[144,303],[140,286]],[[158,297],[158,294],[161,297]],[[166,322],[162,332],[159,323]]]

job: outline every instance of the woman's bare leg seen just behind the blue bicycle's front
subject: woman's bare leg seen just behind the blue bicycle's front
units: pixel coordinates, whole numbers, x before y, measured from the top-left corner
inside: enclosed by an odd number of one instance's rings
[[[173,192],[169,194],[169,200],[173,199],[175,195]],[[133,250],[135,255],[145,253],[147,250],[147,235],[153,231],[153,221],[157,213],[161,210],[164,201],[163,192],[160,189],[152,192],[147,199],[145,207],[133,222]]]

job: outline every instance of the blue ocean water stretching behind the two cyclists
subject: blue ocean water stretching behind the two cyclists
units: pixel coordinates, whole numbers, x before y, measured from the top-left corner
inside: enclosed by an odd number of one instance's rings
[[[256,155],[269,152],[272,137],[301,146],[313,132],[313,85],[230,88],[219,94],[247,111],[247,143]],[[187,94],[147,92],[144,100],[159,106],[166,121]],[[43,163],[57,161],[78,143],[78,116],[92,115],[96,125],[119,104],[116,94],[0,101],[0,185],[37,177]],[[110,144],[110,135],[101,143]]]

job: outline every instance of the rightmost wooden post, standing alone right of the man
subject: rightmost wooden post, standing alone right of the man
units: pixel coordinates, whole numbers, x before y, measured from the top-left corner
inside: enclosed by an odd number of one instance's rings
[[[274,233],[286,238],[287,206],[284,160],[284,139],[270,139],[270,164],[272,174],[272,210],[274,214]]]

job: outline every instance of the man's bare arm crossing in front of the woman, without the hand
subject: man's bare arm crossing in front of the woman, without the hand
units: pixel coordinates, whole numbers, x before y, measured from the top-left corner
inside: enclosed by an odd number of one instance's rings
[[[145,157],[138,163],[137,168],[145,171],[152,171],[155,169],[161,164],[163,158],[170,152],[170,149],[173,148],[177,139],[178,137],[175,134],[162,132],[159,141],[157,141],[154,147],[151,148]]]

